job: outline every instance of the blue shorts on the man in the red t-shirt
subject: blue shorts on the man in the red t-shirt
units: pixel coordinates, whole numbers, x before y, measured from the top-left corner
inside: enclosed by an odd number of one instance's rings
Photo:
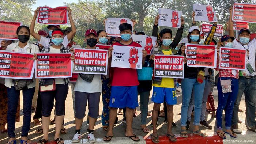
[[[112,86],[109,106],[135,109],[139,106],[137,86]]]

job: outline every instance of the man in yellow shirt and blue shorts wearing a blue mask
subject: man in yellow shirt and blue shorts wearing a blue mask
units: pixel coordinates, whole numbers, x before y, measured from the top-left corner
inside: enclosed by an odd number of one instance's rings
[[[154,57],[155,54],[164,54],[164,55],[174,55],[177,54],[176,46],[181,40],[182,33],[184,28],[184,20],[181,17],[181,28],[177,30],[176,36],[172,42],[172,30],[163,29],[160,31],[160,40],[163,45],[154,48],[151,56],[150,63],[154,66]],[[184,57],[184,63],[187,62],[186,57]],[[159,143],[158,134],[157,134],[157,117],[158,111],[160,110],[160,104],[164,101],[166,102],[167,107],[167,120],[168,120],[168,129],[167,136],[170,141],[177,141],[175,135],[172,133],[172,122],[173,122],[173,105],[177,103],[176,91],[174,85],[174,79],[172,78],[154,78],[153,79],[153,95],[152,101],[154,102],[153,111],[152,111],[152,123],[153,123],[153,134],[152,141],[154,143]]]

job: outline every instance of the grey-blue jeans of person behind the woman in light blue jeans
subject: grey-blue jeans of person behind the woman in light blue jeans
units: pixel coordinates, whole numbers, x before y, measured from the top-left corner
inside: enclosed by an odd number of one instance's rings
[[[201,109],[200,121],[205,120],[206,102],[208,99],[208,95],[211,92],[211,82],[209,80],[204,80],[204,81],[205,81],[205,85],[204,85],[204,94],[202,98],[202,109]],[[194,93],[192,92],[191,99],[188,106],[188,116],[187,116],[188,121],[191,120],[191,113],[192,113],[193,107],[194,107]]]

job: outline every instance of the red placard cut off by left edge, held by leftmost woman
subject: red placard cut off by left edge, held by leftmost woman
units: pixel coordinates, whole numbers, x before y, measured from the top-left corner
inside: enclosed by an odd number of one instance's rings
[[[32,79],[34,54],[0,50],[0,77],[10,79]]]

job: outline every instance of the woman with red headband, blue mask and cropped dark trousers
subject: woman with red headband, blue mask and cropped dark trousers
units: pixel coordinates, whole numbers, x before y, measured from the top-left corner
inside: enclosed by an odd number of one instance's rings
[[[64,31],[61,29],[54,29],[52,31],[52,42],[50,45],[42,49],[43,53],[69,53],[70,50],[65,48],[63,44]],[[36,57],[36,54],[35,54]],[[74,60],[74,56],[70,57]],[[55,82],[55,83],[54,83]],[[39,140],[38,144],[45,144],[48,141],[48,132],[50,125],[50,115],[53,108],[53,101],[55,99],[56,109],[56,123],[54,139],[57,144],[64,144],[63,139],[60,137],[60,131],[64,119],[65,100],[68,94],[68,78],[55,78],[55,79],[40,79],[40,86],[55,84],[55,90],[40,92],[42,99],[42,127],[44,136]]]

